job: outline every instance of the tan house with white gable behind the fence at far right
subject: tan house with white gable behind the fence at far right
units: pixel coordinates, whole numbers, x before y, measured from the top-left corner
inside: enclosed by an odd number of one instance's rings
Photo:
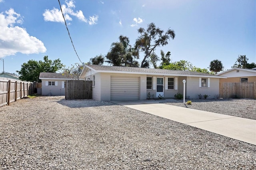
[[[226,79],[220,79],[220,83],[256,82],[256,68],[254,69],[232,68],[227,71],[218,73],[216,75],[227,77]]]

